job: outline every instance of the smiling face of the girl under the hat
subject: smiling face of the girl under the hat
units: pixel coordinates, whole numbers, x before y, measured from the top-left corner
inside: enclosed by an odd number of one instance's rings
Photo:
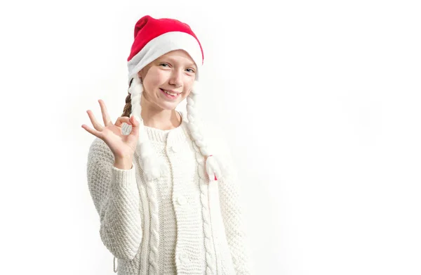
[[[156,108],[173,110],[192,91],[196,70],[187,52],[170,51],[138,72],[144,87],[143,96]]]

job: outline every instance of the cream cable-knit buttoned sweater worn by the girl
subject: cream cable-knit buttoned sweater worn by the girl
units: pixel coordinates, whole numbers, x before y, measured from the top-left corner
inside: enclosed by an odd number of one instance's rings
[[[146,127],[169,174],[147,190],[135,151],[131,170],[114,167],[114,155],[95,138],[88,153],[88,188],[100,217],[100,238],[117,259],[119,275],[250,274],[239,183],[222,139],[210,148],[224,158],[229,174],[209,181],[205,162],[187,127],[187,115],[171,130]],[[123,129],[126,134],[130,126]],[[153,196],[151,196],[153,194]],[[152,198],[152,199],[151,199]],[[156,200],[156,201],[152,201]],[[159,215],[151,215],[152,207]],[[153,224],[159,224],[154,230]],[[152,269],[152,267],[154,267]]]

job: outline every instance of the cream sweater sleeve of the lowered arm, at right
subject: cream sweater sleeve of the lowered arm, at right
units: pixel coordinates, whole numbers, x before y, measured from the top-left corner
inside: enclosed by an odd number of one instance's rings
[[[249,275],[251,254],[245,224],[243,223],[243,200],[239,177],[227,143],[220,141],[219,145],[222,151],[220,151],[218,158],[222,160],[226,167],[224,178],[218,183],[218,190],[227,243],[232,255],[235,274]]]

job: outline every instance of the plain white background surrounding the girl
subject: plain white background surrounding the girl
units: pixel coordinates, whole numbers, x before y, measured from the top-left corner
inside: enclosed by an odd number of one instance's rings
[[[421,274],[421,9],[368,0],[2,3],[1,274],[114,274],[81,124],[121,115],[147,14],[203,45],[253,274]]]

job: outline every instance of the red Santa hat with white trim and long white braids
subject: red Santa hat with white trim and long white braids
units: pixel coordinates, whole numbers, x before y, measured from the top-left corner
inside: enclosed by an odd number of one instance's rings
[[[146,65],[163,54],[175,50],[184,50],[192,57],[196,63],[196,79],[189,96],[187,96],[187,119],[188,127],[192,137],[200,149],[204,158],[206,158],[206,172],[211,181],[221,179],[222,171],[218,157],[208,151],[208,146],[203,140],[203,134],[200,130],[200,122],[196,121],[196,101],[199,95],[198,80],[203,65],[203,49],[196,35],[189,25],[179,20],[170,18],[155,19],[146,15],[135,24],[135,39],[131,47],[131,53],[128,56],[128,84],[131,94],[131,116],[135,116],[140,122],[140,133],[138,141],[138,151],[140,153],[144,174],[147,180],[161,177],[166,173],[165,165],[162,165],[154,155],[152,146],[149,144],[147,134],[144,132],[144,124],[141,113],[140,99],[142,98],[143,85],[138,72]],[[199,162],[199,160],[198,160]],[[203,161],[201,161],[203,164]],[[210,176],[212,175],[212,176]]]

